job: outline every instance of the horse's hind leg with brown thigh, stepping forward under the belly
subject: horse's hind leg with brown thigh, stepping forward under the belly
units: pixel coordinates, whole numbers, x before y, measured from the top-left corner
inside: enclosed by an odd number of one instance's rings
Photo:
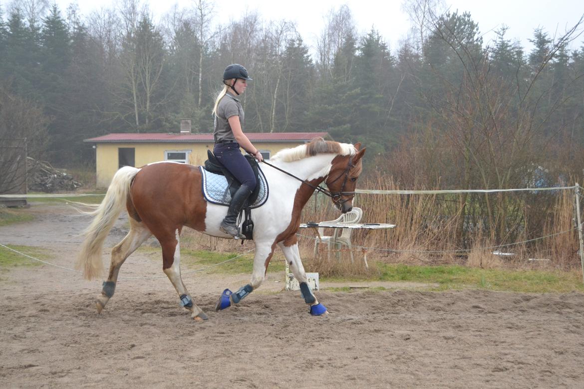
[[[180,305],[192,311],[191,317],[196,321],[207,320],[207,314],[193,302],[192,297],[186,290],[185,283],[180,276],[180,243],[179,243],[179,229],[176,229],[174,236],[172,234],[164,234],[164,236],[157,236],[160,245],[162,246],[162,271],[171,280],[172,285],[179,294]]]

